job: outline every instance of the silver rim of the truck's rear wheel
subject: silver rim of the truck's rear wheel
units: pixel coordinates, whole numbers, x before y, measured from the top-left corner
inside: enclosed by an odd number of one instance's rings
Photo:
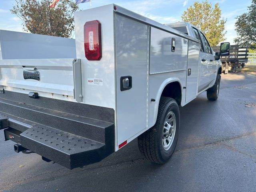
[[[170,111],[164,120],[164,129],[162,135],[162,144],[164,150],[170,149],[172,146],[176,132],[176,117],[173,111]]]

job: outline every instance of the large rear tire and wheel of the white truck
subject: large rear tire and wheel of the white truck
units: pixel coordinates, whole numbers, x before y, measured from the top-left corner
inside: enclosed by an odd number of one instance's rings
[[[140,153],[157,164],[172,156],[178,141],[180,111],[176,100],[161,97],[156,124],[138,136]]]

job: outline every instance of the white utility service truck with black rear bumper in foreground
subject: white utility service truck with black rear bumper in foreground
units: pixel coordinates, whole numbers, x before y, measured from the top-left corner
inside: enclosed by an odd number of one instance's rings
[[[114,4],[76,12],[75,33],[0,30],[5,140],[73,169],[138,137],[147,159],[165,163],[178,140],[178,106],[206,90],[218,98],[229,43],[214,53],[188,23],[163,25]]]

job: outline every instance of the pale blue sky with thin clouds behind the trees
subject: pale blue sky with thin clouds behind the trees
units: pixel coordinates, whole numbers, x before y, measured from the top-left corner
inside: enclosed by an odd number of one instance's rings
[[[92,7],[115,3],[164,24],[182,21],[180,16],[193,2],[194,0],[92,0]],[[209,0],[209,2],[220,4],[222,17],[227,18],[226,41],[233,44],[233,39],[236,37],[235,17],[247,11],[251,0]],[[14,0],[0,0],[0,29],[22,32],[20,19],[10,13],[13,4]],[[85,10],[90,8],[90,3],[79,6],[80,9]]]

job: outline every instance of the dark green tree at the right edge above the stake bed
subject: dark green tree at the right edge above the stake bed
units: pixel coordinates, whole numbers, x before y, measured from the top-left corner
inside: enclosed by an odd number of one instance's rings
[[[240,46],[248,46],[256,49],[256,0],[248,6],[248,13],[236,17],[236,32],[238,37],[234,39]]]

